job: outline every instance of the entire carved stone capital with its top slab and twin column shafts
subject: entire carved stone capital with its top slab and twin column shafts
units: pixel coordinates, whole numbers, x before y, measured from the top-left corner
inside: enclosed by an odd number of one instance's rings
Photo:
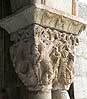
[[[27,7],[0,21],[14,44],[11,60],[30,99],[69,99],[74,77],[74,47],[83,21],[44,5]]]

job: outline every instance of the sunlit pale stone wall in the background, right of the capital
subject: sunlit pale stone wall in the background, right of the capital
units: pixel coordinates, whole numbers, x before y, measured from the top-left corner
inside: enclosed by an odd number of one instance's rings
[[[78,15],[87,20],[87,5],[79,3]],[[87,99],[87,28],[79,36],[75,62],[75,99]]]

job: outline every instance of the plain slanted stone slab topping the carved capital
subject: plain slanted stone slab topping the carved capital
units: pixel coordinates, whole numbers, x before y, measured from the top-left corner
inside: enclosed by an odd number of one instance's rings
[[[44,5],[27,6],[0,21],[0,26],[8,33],[16,32],[31,24],[39,24],[75,35],[86,27],[86,23],[82,19]]]

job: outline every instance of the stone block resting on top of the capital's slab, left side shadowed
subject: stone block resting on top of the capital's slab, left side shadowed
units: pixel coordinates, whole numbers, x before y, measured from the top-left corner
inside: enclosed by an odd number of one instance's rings
[[[13,12],[24,7],[33,4],[43,4],[50,8],[64,11],[72,14],[72,0],[10,0]]]

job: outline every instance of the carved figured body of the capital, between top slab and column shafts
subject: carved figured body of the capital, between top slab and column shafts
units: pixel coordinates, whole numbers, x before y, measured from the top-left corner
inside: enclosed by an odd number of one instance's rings
[[[11,40],[13,66],[29,90],[68,89],[74,75],[75,35],[33,24],[11,33]]]

